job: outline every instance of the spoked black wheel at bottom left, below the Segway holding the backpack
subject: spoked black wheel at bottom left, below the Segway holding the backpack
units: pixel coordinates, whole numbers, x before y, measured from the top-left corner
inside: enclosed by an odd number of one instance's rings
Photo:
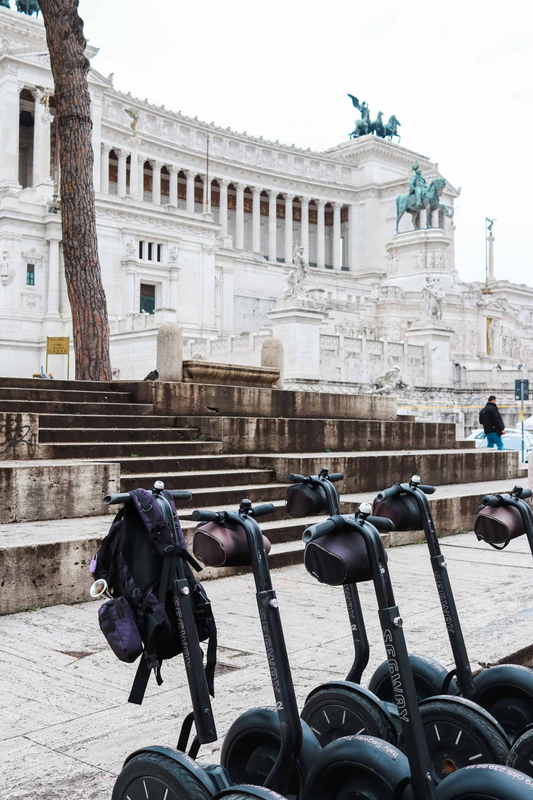
[[[209,800],[201,781],[180,763],[159,753],[134,756],[121,770],[111,800]]]

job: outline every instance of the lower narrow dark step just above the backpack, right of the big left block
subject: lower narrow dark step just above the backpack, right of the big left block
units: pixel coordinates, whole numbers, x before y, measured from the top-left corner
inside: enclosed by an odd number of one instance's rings
[[[251,486],[272,483],[272,470],[204,470],[198,472],[171,472],[152,474],[121,474],[121,491],[129,492],[138,486],[150,489],[153,482],[165,482],[166,489],[208,489],[219,486]],[[244,495],[246,496],[246,495]]]

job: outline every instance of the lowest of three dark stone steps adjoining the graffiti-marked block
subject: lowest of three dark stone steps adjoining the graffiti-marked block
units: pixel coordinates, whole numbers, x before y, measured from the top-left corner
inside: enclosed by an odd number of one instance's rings
[[[125,458],[129,461],[141,461],[149,456],[158,456],[161,451],[166,456],[202,455],[221,453],[221,442],[64,442],[62,444],[45,444],[39,442],[39,453],[42,458]],[[169,458],[165,459],[169,460]],[[171,468],[177,466],[175,460]],[[167,466],[167,469],[169,467]],[[136,472],[138,471],[136,466]]]

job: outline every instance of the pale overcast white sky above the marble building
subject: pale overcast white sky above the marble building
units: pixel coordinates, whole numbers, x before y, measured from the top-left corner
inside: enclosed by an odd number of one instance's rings
[[[171,110],[312,150],[359,117],[401,122],[402,145],[462,187],[455,261],[484,280],[485,216],[495,274],[531,274],[531,2],[80,0],[93,65]],[[394,233],[391,230],[391,235]]]

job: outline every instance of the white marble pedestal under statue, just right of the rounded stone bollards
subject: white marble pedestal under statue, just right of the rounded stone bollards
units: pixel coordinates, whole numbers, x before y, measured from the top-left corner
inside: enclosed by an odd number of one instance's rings
[[[297,299],[280,301],[268,312],[273,336],[283,344],[285,380],[320,378],[320,323],[326,316]]]

